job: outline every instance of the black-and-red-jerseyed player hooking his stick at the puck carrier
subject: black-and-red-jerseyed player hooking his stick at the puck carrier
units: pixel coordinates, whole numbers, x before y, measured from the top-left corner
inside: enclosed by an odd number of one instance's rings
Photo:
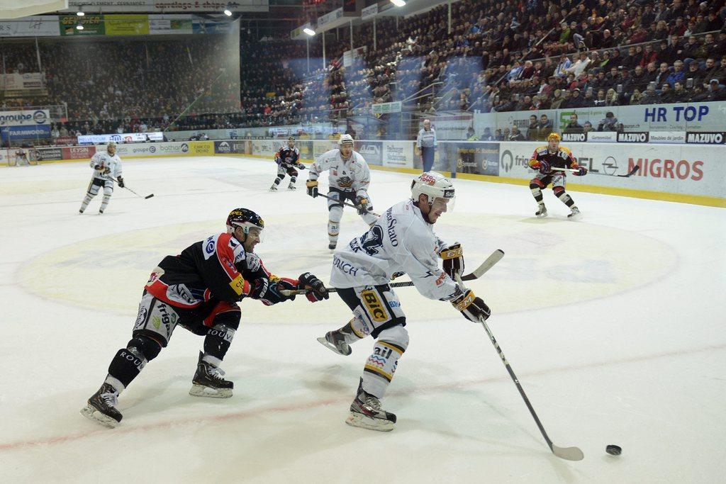
[[[224,380],[219,366],[240,326],[237,302],[253,298],[273,305],[295,298],[281,290],[298,289],[309,290],[311,302],[329,297],[325,285],[309,272],[283,279],[266,270],[254,253],[262,229],[264,222],[256,213],[237,208],[229,213],[227,233],[196,242],[159,263],[144,287],[131,340],[113,357],[103,385],[81,409],[83,416],[107,427],[121,422],[119,393],[166,347],[177,325],[205,337],[189,395],[229,398],[234,384]]]

